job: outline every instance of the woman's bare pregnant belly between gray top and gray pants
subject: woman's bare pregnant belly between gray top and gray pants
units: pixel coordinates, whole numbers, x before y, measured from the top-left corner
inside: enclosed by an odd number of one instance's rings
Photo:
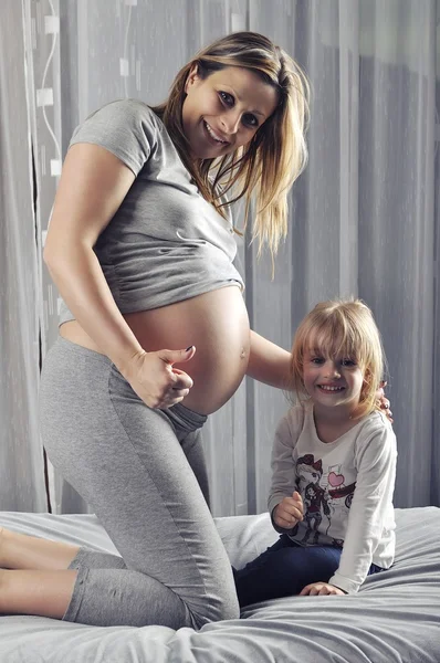
[[[242,381],[249,361],[250,329],[239,287],[223,287],[124,317],[147,351],[196,346],[192,359],[175,365],[193,381],[182,401],[187,408],[210,414],[231,398]],[[61,334],[99,351],[76,322],[65,323]]]

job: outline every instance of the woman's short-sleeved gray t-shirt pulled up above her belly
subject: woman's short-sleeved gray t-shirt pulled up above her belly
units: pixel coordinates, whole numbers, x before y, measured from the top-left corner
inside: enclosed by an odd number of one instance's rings
[[[165,125],[143,102],[107,104],[75,143],[99,145],[136,176],[94,251],[122,313],[158,308],[228,285],[244,288],[233,265],[233,225],[191,183]],[[64,302],[60,324],[74,319]]]

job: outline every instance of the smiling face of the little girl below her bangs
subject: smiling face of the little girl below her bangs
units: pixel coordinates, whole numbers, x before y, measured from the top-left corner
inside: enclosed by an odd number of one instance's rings
[[[303,379],[321,411],[338,408],[349,414],[359,403],[364,371],[352,357],[328,358],[312,347],[304,352]]]

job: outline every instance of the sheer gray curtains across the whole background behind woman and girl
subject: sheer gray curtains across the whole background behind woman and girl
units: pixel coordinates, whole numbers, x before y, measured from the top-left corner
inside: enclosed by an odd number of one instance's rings
[[[269,257],[258,261],[253,249],[239,243],[252,326],[289,348],[316,302],[363,297],[376,315],[389,362],[399,443],[396,504],[440,504],[437,4],[23,0],[20,7],[7,0],[1,12],[9,22],[1,21],[1,30],[13,40],[18,65],[12,72],[2,57],[0,70],[1,508],[43,508],[35,420],[39,327],[43,358],[56,336],[57,295],[41,266],[41,244],[73,128],[114,98],[161,101],[198,48],[241,29],[285,48],[313,86],[310,164],[294,187],[290,235],[273,281]],[[10,57],[9,42],[1,39],[0,49]],[[17,135],[12,123],[20,123]],[[35,210],[27,135],[35,156]],[[11,150],[13,159],[21,155],[15,171]],[[235,213],[240,223],[241,209]],[[32,265],[25,282],[21,265]],[[210,418],[205,440],[216,515],[265,509],[272,435],[287,407],[281,392],[249,380]],[[49,478],[54,511],[86,511],[50,465]],[[17,498],[9,501],[11,494]]]

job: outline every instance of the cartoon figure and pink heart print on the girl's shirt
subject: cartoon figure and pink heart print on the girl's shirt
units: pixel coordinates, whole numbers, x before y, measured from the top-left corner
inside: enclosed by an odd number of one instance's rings
[[[297,459],[295,483],[304,503],[304,519],[293,536],[303,545],[342,547],[344,541],[329,534],[332,520],[345,519],[356,483],[345,484],[341,465],[329,465],[324,472],[322,460],[315,461],[311,453]]]

